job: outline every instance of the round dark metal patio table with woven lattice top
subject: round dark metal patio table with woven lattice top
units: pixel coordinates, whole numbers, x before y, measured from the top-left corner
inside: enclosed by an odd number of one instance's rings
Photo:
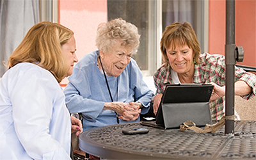
[[[154,122],[152,122],[154,123]],[[125,135],[122,129],[149,129]],[[84,131],[79,147],[106,159],[256,159],[256,122],[236,121],[234,134],[157,129],[140,123],[108,125]]]

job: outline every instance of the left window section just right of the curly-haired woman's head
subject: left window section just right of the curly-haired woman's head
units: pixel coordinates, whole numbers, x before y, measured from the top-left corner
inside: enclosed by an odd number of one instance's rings
[[[143,76],[152,76],[157,69],[157,5],[157,1],[108,0],[108,20],[122,17],[139,30],[140,47],[133,58],[143,71]]]

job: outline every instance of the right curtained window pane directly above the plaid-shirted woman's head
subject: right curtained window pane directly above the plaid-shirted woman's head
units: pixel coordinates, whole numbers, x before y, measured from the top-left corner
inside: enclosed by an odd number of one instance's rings
[[[189,22],[195,29],[203,52],[208,44],[208,1],[163,0],[163,31],[173,22]]]

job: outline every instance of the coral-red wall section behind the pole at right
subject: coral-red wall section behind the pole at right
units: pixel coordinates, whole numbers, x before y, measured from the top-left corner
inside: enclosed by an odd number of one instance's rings
[[[225,0],[209,0],[209,53],[225,55]],[[244,49],[244,61],[256,67],[256,1],[236,1],[236,45]]]

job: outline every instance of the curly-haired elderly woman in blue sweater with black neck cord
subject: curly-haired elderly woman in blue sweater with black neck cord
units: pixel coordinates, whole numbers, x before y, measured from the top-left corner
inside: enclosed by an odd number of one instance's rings
[[[100,24],[96,45],[74,67],[64,93],[70,113],[83,113],[83,128],[139,122],[154,93],[132,59],[140,44],[136,26],[122,19]]]

